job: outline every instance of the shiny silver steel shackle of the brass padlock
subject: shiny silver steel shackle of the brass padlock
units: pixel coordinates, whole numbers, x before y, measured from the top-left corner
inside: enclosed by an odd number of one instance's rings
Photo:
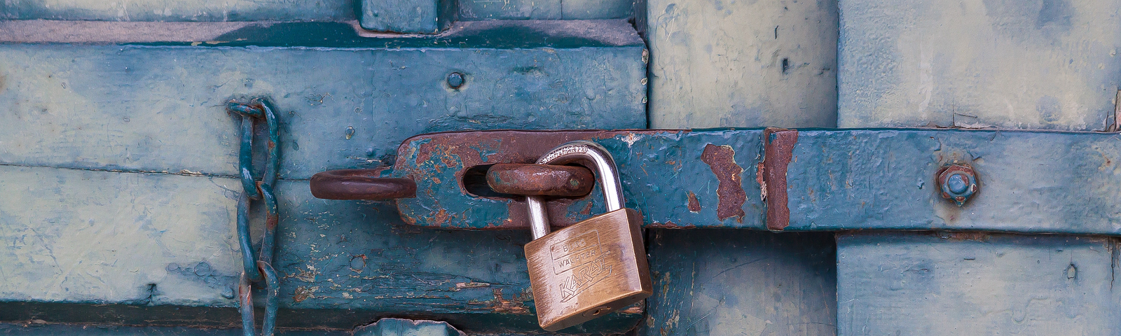
[[[619,180],[619,169],[615,160],[608,152],[606,148],[587,140],[569,141],[549,150],[537,159],[538,165],[566,165],[576,161],[585,161],[591,165],[595,175],[599,176],[602,185],[604,203],[608,212],[623,208],[623,186]],[[545,207],[545,199],[541,196],[526,196],[526,204],[529,207],[529,228],[534,239],[539,239],[549,233],[549,217]]]

